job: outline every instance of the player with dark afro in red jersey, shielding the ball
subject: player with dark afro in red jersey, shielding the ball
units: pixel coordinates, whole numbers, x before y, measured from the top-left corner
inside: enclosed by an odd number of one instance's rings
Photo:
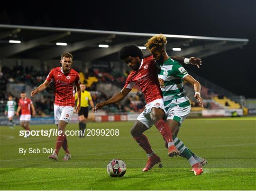
[[[165,117],[165,106],[157,78],[157,67],[154,58],[152,55],[144,59],[142,58],[143,53],[135,44],[124,46],[119,51],[119,59],[125,61],[133,71],[129,74],[124,88],[107,101],[96,104],[94,112],[105,105],[115,104],[123,100],[135,84],[141,88],[146,99],[146,106],[145,110],[137,117],[137,121],[131,129],[131,135],[138,145],[146,151],[148,160],[143,171],[148,171],[155,164],[161,162],[160,157],[152,150],[146,135],[143,134],[153,124],[155,124],[155,127],[160,131],[164,139],[167,140],[168,156],[176,156],[178,151],[174,146],[172,132],[168,124],[163,120]],[[180,60],[184,61],[184,58]]]

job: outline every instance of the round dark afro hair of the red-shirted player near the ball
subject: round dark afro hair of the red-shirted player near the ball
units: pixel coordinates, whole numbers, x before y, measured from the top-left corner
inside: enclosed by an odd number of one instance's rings
[[[143,53],[139,49],[139,47],[137,47],[136,44],[129,44],[121,48],[121,50],[119,51],[119,59],[124,60],[128,56],[132,56],[132,57],[138,56],[140,59],[142,59]]]

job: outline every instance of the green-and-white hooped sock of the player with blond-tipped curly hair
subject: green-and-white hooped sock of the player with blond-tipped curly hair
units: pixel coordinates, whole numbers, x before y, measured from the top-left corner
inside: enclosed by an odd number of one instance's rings
[[[196,161],[196,159],[192,156],[192,154],[190,153],[190,151],[188,150],[188,148],[186,148],[186,146],[183,144],[183,142],[178,139],[177,137],[173,136],[173,140],[174,140],[174,145],[175,147],[179,150],[180,155],[184,158],[186,158],[190,165],[194,165],[196,163],[198,163]]]

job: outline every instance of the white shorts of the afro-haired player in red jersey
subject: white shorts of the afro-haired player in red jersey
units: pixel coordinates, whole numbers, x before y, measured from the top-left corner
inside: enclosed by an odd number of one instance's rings
[[[153,107],[161,108],[166,113],[163,99],[156,99],[153,102],[146,104],[145,110],[139,114],[139,116],[137,117],[137,120],[139,122],[142,122],[144,125],[146,125],[146,127],[148,129],[150,129],[152,127],[152,125],[154,125],[154,122],[152,121],[152,119],[150,117],[150,113],[151,113],[151,110]]]

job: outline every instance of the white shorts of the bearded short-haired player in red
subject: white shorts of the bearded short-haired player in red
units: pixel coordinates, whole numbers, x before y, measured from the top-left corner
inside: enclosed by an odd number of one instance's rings
[[[54,104],[54,120],[58,125],[59,121],[68,122],[73,114],[72,106],[59,106]]]

